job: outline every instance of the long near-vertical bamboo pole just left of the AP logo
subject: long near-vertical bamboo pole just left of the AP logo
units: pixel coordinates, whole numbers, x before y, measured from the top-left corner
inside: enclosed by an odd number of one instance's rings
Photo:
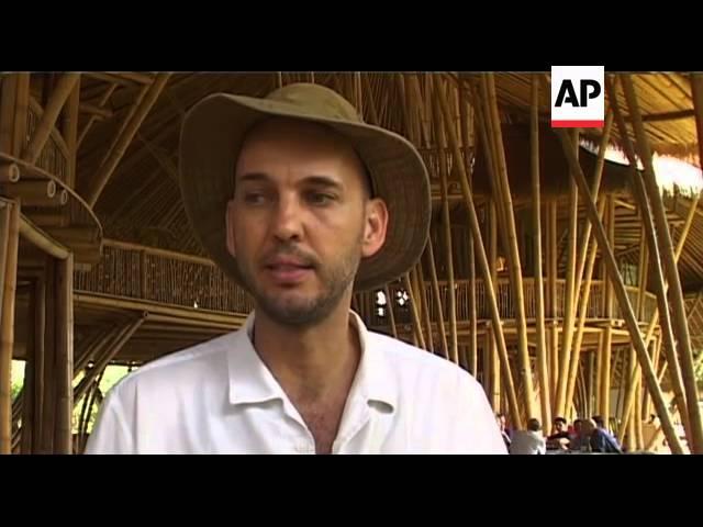
[[[547,343],[545,337],[545,298],[544,282],[542,279],[542,222],[539,218],[542,213],[542,205],[539,201],[539,81],[536,76],[532,77],[531,102],[529,167],[532,175],[532,231],[536,311],[535,336],[537,338],[536,358],[542,422],[547,426],[548,423],[551,423],[551,404],[549,401],[549,373],[547,371]]]

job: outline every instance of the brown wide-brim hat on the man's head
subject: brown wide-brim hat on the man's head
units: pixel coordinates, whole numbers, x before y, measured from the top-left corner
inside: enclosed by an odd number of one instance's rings
[[[355,289],[382,287],[414,266],[427,242],[431,218],[429,179],[420,153],[404,137],[365,123],[335,91],[313,83],[291,83],[264,99],[211,94],[185,116],[179,146],[182,199],[214,262],[242,284],[227,251],[225,213],[243,141],[254,125],[272,116],[320,123],[345,136],[368,169],[373,197],[388,206],[386,242],[361,260]]]

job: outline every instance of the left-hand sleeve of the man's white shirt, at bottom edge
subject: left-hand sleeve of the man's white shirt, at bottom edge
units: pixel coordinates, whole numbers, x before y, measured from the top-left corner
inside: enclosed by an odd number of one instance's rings
[[[86,445],[86,455],[136,453],[134,437],[116,388],[107,395],[100,407],[98,418]]]

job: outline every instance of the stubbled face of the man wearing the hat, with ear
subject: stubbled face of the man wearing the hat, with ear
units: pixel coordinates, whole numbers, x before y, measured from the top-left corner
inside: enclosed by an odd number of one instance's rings
[[[227,208],[227,248],[257,309],[286,325],[325,318],[350,299],[360,259],[386,237],[352,147],[321,126],[270,120],[243,145]]]

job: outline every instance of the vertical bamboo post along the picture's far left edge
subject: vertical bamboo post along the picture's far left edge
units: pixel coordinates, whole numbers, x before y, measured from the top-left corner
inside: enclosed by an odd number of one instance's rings
[[[0,214],[8,225],[8,237],[0,240],[0,253],[4,253],[2,277],[2,315],[0,318],[0,453],[10,453],[12,448],[12,350],[14,346],[14,310],[20,240],[20,205],[7,203]],[[0,258],[3,255],[0,254]]]

